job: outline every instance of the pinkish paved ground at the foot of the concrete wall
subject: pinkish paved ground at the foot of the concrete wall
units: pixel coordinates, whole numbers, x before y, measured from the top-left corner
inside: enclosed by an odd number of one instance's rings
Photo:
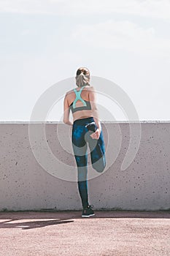
[[[0,212],[0,255],[170,255],[170,211]]]

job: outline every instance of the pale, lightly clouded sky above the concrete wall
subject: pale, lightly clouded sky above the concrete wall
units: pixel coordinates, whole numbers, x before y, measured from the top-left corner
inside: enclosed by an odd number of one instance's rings
[[[139,120],[169,121],[169,25],[170,0],[0,0],[0,121],[29,121],[39,97],[79,67],[92,83],[120,86]],[[109,97],[98,104],[127,120]],[[56,95],[46,120],[62,115]]]

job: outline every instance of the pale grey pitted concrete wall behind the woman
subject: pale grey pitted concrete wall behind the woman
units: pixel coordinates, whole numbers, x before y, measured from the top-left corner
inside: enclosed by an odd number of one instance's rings
[[[131,125],[139,129],[135,122]],[[111,161],[113,164],[104,173],[88,181],[89,203],[94,209],[170,208],[170,123],[141,122],[139,150],[124,171],[120,170],[120,166],[129,143],[128,122],[104,121],[101,126],[106,147],[108,134],[110,140],[112,137],[113,148],[117,148],[120,136],[122,141],[117,157],[114,149],[107,151],[108,162],[114,158],[115,162]],[[60,135],[63,132],[62,142],[72,149],[71,127],[59,122],[45,124],[47,143],[61,162],[76,167],[74,155],[61,147],[56,135],[58,127]],[[77,181],[57,178],[36,161],[29,142],[28,122],[1,122],[0,135],[0,211],[5,208],[15,211],[82,209]],[[89,167],[90,170],[92,168]]]

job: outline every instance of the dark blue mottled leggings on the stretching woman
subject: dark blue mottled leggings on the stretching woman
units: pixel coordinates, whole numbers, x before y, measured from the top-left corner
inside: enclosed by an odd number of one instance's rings
[[[72,148],[77,162],[78,189],[82,200],[82,207],[88,206],[88,146],[90,148],[90,157],[93,168],[99,173],[106,167],[104,137],[101,129],[98,141],[90,137],[93,132],[88,131],[86,124],[94,121],[93,117],[77,119],[72,126]],[[88,145],[87,145],[88,142]],[[98,151],[98,145],[101,151]],[[102,152],[102,154],[101,154]]]

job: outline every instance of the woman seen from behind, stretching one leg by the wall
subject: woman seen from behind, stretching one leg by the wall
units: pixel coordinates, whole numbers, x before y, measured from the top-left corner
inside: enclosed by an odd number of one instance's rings
[[[89,70],[85,67],[77,69],[76,84],[78,88],[68,91],[63,101],[63,122],[72,125],[72,147],[77,162],[78,189],[83,208],[82,217],[95,215],[92,209],[93,205],[90,206],[88,203],[88,146],[93,168],[101,173],[106,166],[104,137],[96,107],[96,92],[93,86],[90,86],[89,81]],[[69,121],[70,109],[72,110],[73,124]],[[96,126],[95,132],[89,130],[92,124]]]

